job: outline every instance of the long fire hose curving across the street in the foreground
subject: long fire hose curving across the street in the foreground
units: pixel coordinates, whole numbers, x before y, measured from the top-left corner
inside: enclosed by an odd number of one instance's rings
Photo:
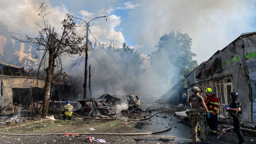
[[[160,109],[159,109],[160,110]],[[171,118],[168,120],[168,125],[170,126],[168,129],[166,130],[161,130],[158,132],[140,132],[140,133],[75,133],[78,135],[151,135],[151,134],[156,134],[156,133],[161,133],[161,132],[166,132],[168,130],[171,130],[172,126],[171,126],[171,119],[173,118],[173,116],[171,115],[171,113],[168,113],[168,111],[163,111],[163,109],[161,109],[162,111],[158,112],[158,113],[167,113],[168,115],[171,116]],[[59,112],[59,111],[58,111]],[[56,112],[57,113],[57,112]],[[149,118],[152,118],[153,116],[155,116],[156,114],[150,116]],[[75,113],[74,113],[75,114]],[[77,116],[80,116],[78,114],[75,114]],[[81,116],[83,118],[88,118],[85,116]],[[145,118],[145,119],[128,119],[128,120],[148,120],[149,118]],[[96,120],[122,120],[122,119],[105,119],[105,118],[90,118],[90,119],[96,119]],[[74,134],[74,133],[69,133],[69,134]],[[45,135],[66,135],[66,133],[48,133],[48,134],[8,134],[8,133],[2,133],[0,132],[0,135],[13,135],[13,136],[36,136],[36,135],[41,135],[41,136],[45,136]]]

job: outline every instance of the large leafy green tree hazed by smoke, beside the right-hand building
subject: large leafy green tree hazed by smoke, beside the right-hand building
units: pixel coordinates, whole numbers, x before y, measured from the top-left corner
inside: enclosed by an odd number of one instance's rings
[[[197,66],[197,61],[192,59],[196,54],[191,51],[191,45],[192,38],[187,33],[172,31],[162,35],[156,45],[158,49],[148,55],[153,71],[166,77],[168,83],[185,81],[185,75]]]

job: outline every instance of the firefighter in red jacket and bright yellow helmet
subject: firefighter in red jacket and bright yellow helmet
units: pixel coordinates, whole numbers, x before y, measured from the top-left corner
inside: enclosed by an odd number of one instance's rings
[[[206,94],[207,99],[205,103],[210,113],[210,118],[206,118],[207,125],[211,129],[209,135],[217,135],[219,101],[216,95],[212,93],[211,88],[206,89]]]

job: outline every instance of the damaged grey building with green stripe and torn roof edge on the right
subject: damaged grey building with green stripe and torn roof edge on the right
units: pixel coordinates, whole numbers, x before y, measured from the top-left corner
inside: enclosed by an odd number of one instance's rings
[[[256,123],[256,32],[242,33],[222,50],[218,50],[187,74],[187,93],[210,87],[219,99],[219,114],[227,115],[223,106],[230,104],[229,93],[235,91],[242,103],[243,121]]]

